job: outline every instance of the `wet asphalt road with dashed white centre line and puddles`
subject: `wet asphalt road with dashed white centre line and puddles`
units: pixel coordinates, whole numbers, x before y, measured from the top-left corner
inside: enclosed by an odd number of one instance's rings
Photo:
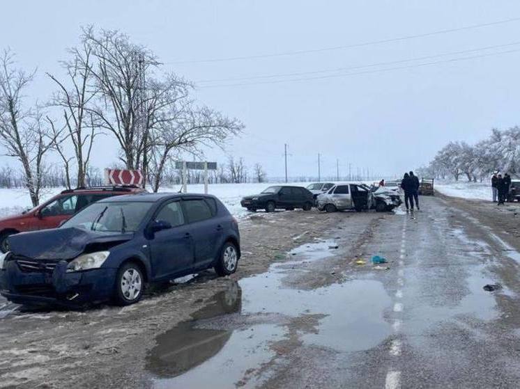
[[[359,231],[339,223],[231,284],[157,338],[153,386],[518,388],[520,255],[449,201],[421,200],[353,215]]]

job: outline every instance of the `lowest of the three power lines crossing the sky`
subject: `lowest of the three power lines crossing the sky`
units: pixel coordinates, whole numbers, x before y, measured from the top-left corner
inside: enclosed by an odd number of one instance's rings
[[[461,57],[461,58],[451,58],[451,59],[442,60],[442,61],[418,63],[418,64],[415,64],[415,65],[397,66],[397,67],[394,67],[394,68],[386,68],[386,69],[379,69],[379,70],[366,70],[364,72],[330,74],[330,75],[326,75],[326,76],[302,77],[302,78],[298,78],[298,79],[285,79],[285,80],[274,80],[274,81],[258,81],[258,82],[236,83],[236,84],[220,84],[220,85],[201,86],[199,88],[207,89],[207,88],[220,88],[220,87],[226,87],[226,86],[248,86],[248,85],[261,85],[261,84],[280,84],[280,83],[284,83],[284,82],[309,81],[309,80],[316,80],[316,79],[330,79],[330,78],[337,78],[337,77],[348,77],[348,76],[355,76],[355,75],[358,75],[358,74],[372,74],[372,73],[390,72],[392,70],[420,68],[422,66],[437,65],[439,63],[451,63],[451,62],[457,62],[457,61],[466,61],[466,60],[475,59],[475,58],[484,58],[484,57],[488,57],[488,56],[494,56],[494,55],[497,55],[497,54],[510,54],[510,53],[514,53],[514,52],[517,52],[517,51],[520,51],[520,49],[507,50],[507,51],[497,51],[495,53],[480,54],[480,55],[477,55],[477,56],[466,56],[466,57]]]

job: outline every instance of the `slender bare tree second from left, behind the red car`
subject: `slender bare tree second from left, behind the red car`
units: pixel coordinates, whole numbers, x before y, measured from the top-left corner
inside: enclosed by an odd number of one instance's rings
[[[92,78],[92,47],[88,42],[83,42],[81,47],[68,51],[72,59],[61,62],[66,70],[66,80],[60,80],[53,74],[47,73],[47,76],[58,86],[49,104],[62,110],[63,127],[66,129],[64,138],[57,139],[54,148],[68,168],[70,158],[63,156],[60,146],[63,141],[68,140],[77,164],[77,185],[84,186],[94,138],[98,134],[94,115],[89,112],[89,106],[97,94],[95,86],[89,84]],[[47,120],[52,122],[49,118]],[[52,126],[54,127],[54,123]]]

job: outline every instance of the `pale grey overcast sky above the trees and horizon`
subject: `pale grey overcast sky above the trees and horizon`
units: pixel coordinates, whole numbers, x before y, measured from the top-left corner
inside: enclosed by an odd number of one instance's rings
[[[24,68],[38,67],[30,93],[39,100],[53,88],[44,73],[59,74],[57,61],[87,24],[127,33],[165,70],[192,81],[240,79],[200,82],[195,95],[243,120],[245,134],[227,151],[250,166],[261,162],[270,177],[284,174],[284,143],[292,176],[317,175],[318,153],[322,175],[335,175],[336,159],[341,175],[349,164],[400,175],[448,141],[471,143],[520,122],[520,20],[345,48],[520,17],[519,1],[19,0],[4,2],[2,13],[0,47],[13,49]],[[510,43],[519,44],[482,49]],[[293,51],[311,52],[266,56]],[[457,51],[466,52],[438,56]],[[479,57],[448,62],[468,56]],[[421,57],[429,58],[392,63]],[[337,68],[351,74],[321,72]],[[400,69],[379,71],[388,68]],[[208,159],[224,155],[210,150]],[[93,164],[115,160],[115,144],[99,142]]]

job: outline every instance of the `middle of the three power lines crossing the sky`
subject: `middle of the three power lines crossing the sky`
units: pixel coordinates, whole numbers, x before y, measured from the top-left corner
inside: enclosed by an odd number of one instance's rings
[[[206,83],[222,82],[222,81],[247,81],[247,80],[254,80],[254,79],[270,79],[270,78],[280,78],[280,77],[303,76],[303,75],[307,75],[307,74],[342,72],[344,70],[373,68],[375,66],[381,66],[381,65],[395,65],[397,63],[405,63],[405,62],[412,62],[412,61],[422,61],[422,60],[425,60],[425,59],[438,58],[438,57],[443,57],[443,56],[454,56],[454,55],[457,55],[457,54],[467,54],[467,53],[473,53],[475,51],[498,49],[500,47],[510,47],[510,46],[515,46],[515,45],[520,45],[520,41],[505,43],[503,45],[479,47],[479,48],[475,48],[475,49],[467,49],[467,50],[459,50],[459,51],[449,51],[449,52],[446,52],[446,53],[433,54],[433,55],[430,55],[430,56],[420,56],[420,57],[415,57],[415,58],[405,58],[405,59],[401,59],[401,60],[397,60],[397,61],[386,61],[386,62],[370,63],[370,64],[367,64],[367,65],[351,66],[349,68],[335,68],[335,69],[328,69],[328,70],[314,70],[312,72],[293,72],[293,73],[280,73],[280,74],[266,74],[266,75],[251,76],[251,77],[233,77],[233,78],[227,78],[227,79],[208,79],[208,80],[199,80],[199,81],[195,81],[195,82],[196,83],[204,83],[204,84],[206,84]]]

